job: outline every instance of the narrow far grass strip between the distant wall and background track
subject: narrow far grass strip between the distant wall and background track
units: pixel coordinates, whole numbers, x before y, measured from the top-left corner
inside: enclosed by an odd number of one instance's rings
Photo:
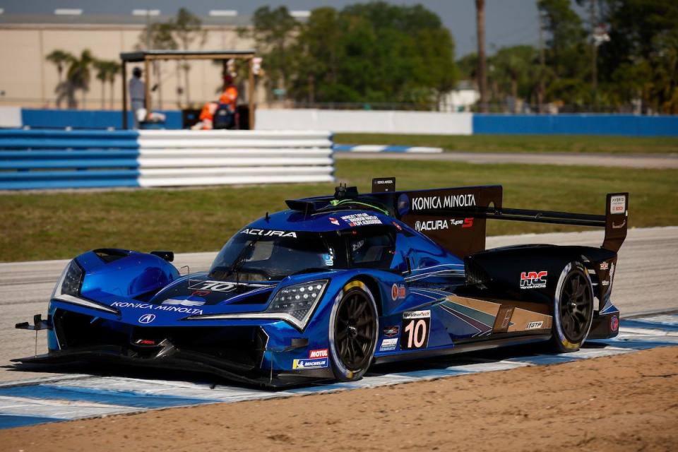
[[[571,135],[393,135],[337,133],[336,143],[433,146],[463,152],[511,153],[678,153],[678,138]]]

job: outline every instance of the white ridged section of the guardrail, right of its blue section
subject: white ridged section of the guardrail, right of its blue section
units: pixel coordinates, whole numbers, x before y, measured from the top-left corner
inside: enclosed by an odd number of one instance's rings
[[[328,131],[139,131],[140,186],[333,182]]]

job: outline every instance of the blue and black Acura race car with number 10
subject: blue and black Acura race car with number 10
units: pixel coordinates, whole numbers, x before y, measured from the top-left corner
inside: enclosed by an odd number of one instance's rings
[[[49,302],[45,355],[203,371],[285,386],[360,379],[373,363],[550,341],[557,352],[617,335],[610,300],[628,194],[605,215],[509,209],[501,186],[287,201],[239,230],[207,272],[179,275],[170,251],[95,249],[74,258]],[[488,219],[605,227],[601,248],[485,250]]]

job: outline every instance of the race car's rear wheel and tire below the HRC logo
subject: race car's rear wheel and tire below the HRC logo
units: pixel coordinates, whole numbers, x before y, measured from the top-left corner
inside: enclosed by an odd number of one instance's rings
[[[560,274],[554,296],[551,345],[554,351],[576,352],[593,322],[593,284],[583,263],[574,261]]]

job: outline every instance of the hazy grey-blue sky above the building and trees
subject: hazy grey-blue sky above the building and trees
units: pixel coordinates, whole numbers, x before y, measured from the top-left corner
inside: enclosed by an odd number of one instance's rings
[[[234,9],[239,15],[250,15],[259,6],[287,6],[290,10],[309,10],[319,6],[342,8],[366,0],[0,0],[4,13],[52,14],[55,8],[82,8],[84,14],[130,14],[134,8],[160,9],[172,14],[185,6],[194,13],[206,16],[211,9]],[[456,43],[456,58],[475,52],[474,0],[396,0],[391,4],[422,4],[437,13],[452,32]],[[535,0],[486,0],[485,28],[487,52],[515,44],[537,44],[538,18]]]

